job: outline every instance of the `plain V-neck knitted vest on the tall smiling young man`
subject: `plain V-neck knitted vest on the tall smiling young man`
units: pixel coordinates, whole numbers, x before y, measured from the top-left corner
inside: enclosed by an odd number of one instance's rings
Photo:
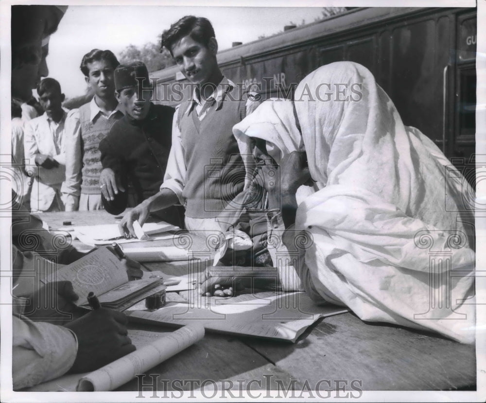
[[[188,217],[217,217],[243,191],[245,169],[232,129],[245,117],[245,99],[237,91],[226,93],[221,108],[211,107],[202,121],[194,108],[189,115],[186,107],[179,110]]]

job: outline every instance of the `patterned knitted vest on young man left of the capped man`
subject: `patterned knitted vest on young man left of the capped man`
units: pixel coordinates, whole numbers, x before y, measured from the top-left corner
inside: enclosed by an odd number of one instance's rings
[[[101,193],[100,174],[103,166],[101,164],[101,153],[98,146],[100,145],[100,141],[108,135],[111,126],[122,116],[121,113],[114,113],[108,119],[100,116],[93,122],[90,119],[89,103],[79,108],[81,150],[83,153],[81,193]]]

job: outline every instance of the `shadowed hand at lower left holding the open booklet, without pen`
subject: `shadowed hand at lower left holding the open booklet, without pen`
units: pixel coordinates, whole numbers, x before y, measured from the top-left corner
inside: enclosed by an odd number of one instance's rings
[[[34,321],[62,325],[86,312],[74,304],[79,296],[70,281],[48,282],[27,298],[23,315]]]

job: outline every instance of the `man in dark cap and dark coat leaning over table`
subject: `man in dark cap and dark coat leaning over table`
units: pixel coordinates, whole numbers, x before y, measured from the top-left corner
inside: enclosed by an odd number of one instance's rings
[[[147,67],[142,62],[118,66],[114,77],[115,95],[125,116],[100,142],[100,186],[104,208],[120,214],[158,192],[171,150],[174,109],[150,101],[152,90],[143,90],[150,86]],[[133,192],[129,192],[129,185]],[[181,225],[175,207],[158,215]]]

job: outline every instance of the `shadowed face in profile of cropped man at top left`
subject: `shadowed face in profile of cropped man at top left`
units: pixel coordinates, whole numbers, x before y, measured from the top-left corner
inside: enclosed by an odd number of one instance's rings
[[[49,74],[46,64],[49,44],[42,46],[42,40],[56,29],[63,16],[62,12],[53,6],[37,6],[33,10],[36,18],[29,24],[29,40],[22,44],[20,49],[15,50],[17,54],[22,54],[22,59],[29,62],[20,63],[12,68],[12,97],[25,102],[32,98],[32,89],[37,87],[40,79]]]

